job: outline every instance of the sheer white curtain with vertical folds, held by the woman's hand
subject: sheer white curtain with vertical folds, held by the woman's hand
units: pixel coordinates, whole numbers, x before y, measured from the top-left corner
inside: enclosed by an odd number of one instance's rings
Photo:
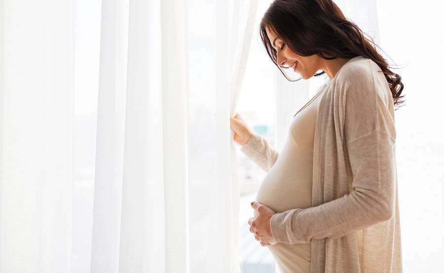
[[[102,1],[91,272],[239,272],[228,129],[257,1],[235,4],[239,37],[228,2]]]

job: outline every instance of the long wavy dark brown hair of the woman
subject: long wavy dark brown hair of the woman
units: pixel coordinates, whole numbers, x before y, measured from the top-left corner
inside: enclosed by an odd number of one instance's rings
[[[276,50],[265,27],[299,56],[317,54],[326,60],[363,56],[373,60],[387,79],[394,105],[399,108],[399,104],[404,102],[400,100],[404,97],[401,96],[404,89],[401,75],[389,69],[387,61],[376,51],[373,39],[367,34],[369,38],[365,37],[355,23],[345,18],[332,0],[274,0],[262,17],[259,34],[268,56],[289,81],[297,81],[299,79],[289,79],[277,64]],[[324,73],[315,73],[314,76]]]

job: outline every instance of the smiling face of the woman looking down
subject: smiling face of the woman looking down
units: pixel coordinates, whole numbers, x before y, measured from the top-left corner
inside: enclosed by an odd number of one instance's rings
[[[322,58],[317,54],[311,56],[299,56],[293,52],[284,41],[265,27],[268,39],[271,45],[276,50],[277,65],[280,67],[291,67],[296,61],[296,72],[301,75],[303,79],[311,78],[318,70],[321,69]]]

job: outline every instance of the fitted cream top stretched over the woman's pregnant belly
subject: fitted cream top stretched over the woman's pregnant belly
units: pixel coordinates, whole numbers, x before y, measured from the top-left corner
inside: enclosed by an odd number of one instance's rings
[[[276,212],[311,207],[314,129],[327,83],[293,118],[282,151],[260,184],[256,202]],[[257,215],[254,210],[254,217]],[[277,243],[267,247],[282,273],[310,272],[311,242]]]

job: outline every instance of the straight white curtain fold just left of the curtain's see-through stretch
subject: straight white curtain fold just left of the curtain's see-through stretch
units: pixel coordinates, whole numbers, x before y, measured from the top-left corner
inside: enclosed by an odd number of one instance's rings
[[[162,162],[165,272],[189,270],[188,224],[188,75],[186,1],[165,0],[160,6]],[[155,42],[153,40],[153,42]],[[155,50],[155,49],[153,49]],[[158,192],[157,194],[161,194]],[[157,209],[148,208],[148,215]],[[149,224],[159,223],[151,217]],[[155,234],[150,234],[154,237]],[[157,248],[161,248],[160,243]],[[160,256],[157,257],[157,259]],[[153,259],[156,259],[155,256]]]

